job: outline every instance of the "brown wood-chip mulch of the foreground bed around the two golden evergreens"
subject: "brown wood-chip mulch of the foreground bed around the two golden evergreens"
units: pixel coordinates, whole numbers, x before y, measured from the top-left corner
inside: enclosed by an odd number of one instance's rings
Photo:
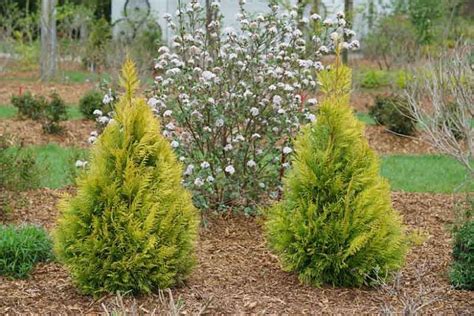
[[[28,203],[15,208],[4,221],[33,221],[54,226],[55,204],[63,192],[33,191]],[[389,289],[311,288],[283,272],[265,246],[260,219],[230,216],[208,218],[197,248],[198,266],[184,287],[172,291],[184,302],[184,312],[211,314],[379,313],[383,306],[401,312],[408,302],[427,304],[427,314],[472,314],[474,292],[451,289],[447,269],[454,198],[449,195],[393,193],[394,206],[411,230],[426,236],[414,246],[401,271],[398,286]],[[0,313],[94,313],[114,304],[98,301],[74,288],[58,263],[41,264],[30,279],[0,278]],[[161,302],[161,303],[160,303]],[[405,303],[403,303],[405,302]],[[158,295],[126,299],[125,305],[142,312],[161,308]],[[161,306],[161,307],[160,307]],[[169,308],[169,307],[168,307]]]

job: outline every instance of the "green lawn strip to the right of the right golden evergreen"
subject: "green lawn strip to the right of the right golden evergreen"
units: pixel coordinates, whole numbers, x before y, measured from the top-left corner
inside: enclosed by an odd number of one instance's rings
[[[452,193],[465,183],[466,171],[440,155],[391,155],[382,158],[382,175],[393,191]],[[474,192],[474,183],[465,191]]]

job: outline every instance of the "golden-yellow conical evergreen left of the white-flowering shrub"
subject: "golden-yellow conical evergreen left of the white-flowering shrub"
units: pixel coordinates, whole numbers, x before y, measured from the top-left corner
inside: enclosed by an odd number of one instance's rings
[[[60,261],[95,296],[168,288],[194,265],[198,214],[159,123],[135,97],[130,61],[122,85],[114,121],[92,148],[77,194],[63,201],[54,235]]]

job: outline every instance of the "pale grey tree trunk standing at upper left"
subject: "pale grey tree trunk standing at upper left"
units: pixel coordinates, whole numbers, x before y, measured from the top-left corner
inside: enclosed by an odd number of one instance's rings
[[[57,71],[56,1],[41,1],[41,81],[53,79]]]

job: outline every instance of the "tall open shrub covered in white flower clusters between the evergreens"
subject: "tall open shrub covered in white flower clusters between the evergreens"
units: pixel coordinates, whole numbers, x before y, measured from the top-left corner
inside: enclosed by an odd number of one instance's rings
[[[197,1],[179,9],[175,20],[165,16],[175,36],[171,50],[159,49],[148,103],[185,164],[184,183],[195,203],[252,211],[262,198],[278,197],[291,138],[315,119],[310,108],[317,101],[306,95],[324,70],[321,56],[354,32],[342,13],[334,21],[317,14],[298,21],[296,11],[276,5],[253,17],[241,2],[238,31],[222,30],[218,2],[210,17]],[[321,37],[308,39],[301,24],[318,25]]]

